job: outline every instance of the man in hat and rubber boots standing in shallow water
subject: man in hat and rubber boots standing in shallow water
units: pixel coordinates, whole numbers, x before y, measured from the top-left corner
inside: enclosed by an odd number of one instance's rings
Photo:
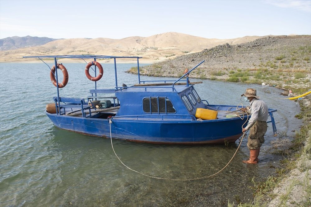
[[[264,101],[259,100],[255,89],[248,88],[241,96],[245,96],[244,99],[249,101],[250,104],[250,110],[248,108],[242,108],[242,110],[251,114],[247,126],[242,129],[242,132],[249,129],[247,140],[249,159],[243,160],[243,162],[256,164],[259,161],[260,147],[265,142],[264,135],[267,131],[268,106]]]

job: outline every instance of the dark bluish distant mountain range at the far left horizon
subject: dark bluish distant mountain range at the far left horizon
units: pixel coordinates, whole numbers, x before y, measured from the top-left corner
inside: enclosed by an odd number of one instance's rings
[[[57,39],[48,37],[7,37],[0,39],[0,50],[14,50],[23,47],[33,47],[46,44]]]

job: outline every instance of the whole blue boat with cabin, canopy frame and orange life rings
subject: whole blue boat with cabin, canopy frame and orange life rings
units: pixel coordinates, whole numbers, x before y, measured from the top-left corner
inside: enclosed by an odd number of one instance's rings
[[[54,59],[50,67],[50,78],[56,86],[57,96],[47,104],[46,114],[56,127],[78,133],[121,140],[157,144],[225,144],[235,142],[242,136],[242,125],[249,115],[234,105],[210,105],[197,94],[188,75],[200,64],[176,81],[142,81],[139,72],[141,57],[118,57],[103,55],[28,56],[23,58]],[[85,67],[86,76],[95,82],[86,98],[62,97],[59,88],[66,86],[66,67],[57,61],[63,58],[89,59]],[[96,81],[103,76],[98,59],[113,59],[115,85],[109,89],[97,89]],[[117,60],[137,61],[137,84],[118,85]],[[55,67],[56,66],[56,67]],[[57,70],[59,68],[60,70]],[[95,77],[89,73],[93,69]],[[63,81],[58,73],[63,72]],[[98,74],[98,75],[96,75]],[[198,83],[198,82],[197,82]],[[52,101],[51,101],[52,102]],[[269,109],[273,133],[276,126],[274,109]],[[225,130],[224,130],[225,129]]]

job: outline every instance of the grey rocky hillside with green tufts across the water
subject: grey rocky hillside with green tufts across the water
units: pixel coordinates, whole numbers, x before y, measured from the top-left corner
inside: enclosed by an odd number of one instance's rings
[[[226,43],[142,67],[140,72],[146,76],[180,77],[186,68],[203,60],[190,78],[265,82],[280,88],[284,83],[310,87],[311,36],[267,36],[248,43]]]

